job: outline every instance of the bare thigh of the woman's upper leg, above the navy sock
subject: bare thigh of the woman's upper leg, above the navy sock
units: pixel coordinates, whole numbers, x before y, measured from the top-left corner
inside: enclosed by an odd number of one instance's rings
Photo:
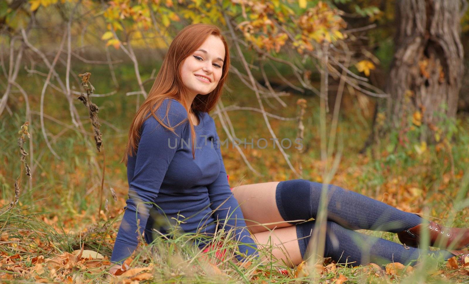
[[[240,204],[246,225],[252,233],[291,226],[280,216],[275,201],[279,181],[241,185],[233,188],[234,198]]]

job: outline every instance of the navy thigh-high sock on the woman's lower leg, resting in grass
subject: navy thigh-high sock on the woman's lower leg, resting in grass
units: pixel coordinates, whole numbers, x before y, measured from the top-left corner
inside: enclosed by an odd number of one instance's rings
[[[296,224],[296,235],[303,259],[314,224],[315,221]],[[326,224],[324,257],[331,257],[337,263],[347,263],[349,266],[365,265],[369,262],[378,265],[391,262],[414,265],[420,254],[428,253],[434,253],[444,260],[453,256],[446,250],[430,251],[404,247],[386,239],[346,229],[332,221],[327,221]]]

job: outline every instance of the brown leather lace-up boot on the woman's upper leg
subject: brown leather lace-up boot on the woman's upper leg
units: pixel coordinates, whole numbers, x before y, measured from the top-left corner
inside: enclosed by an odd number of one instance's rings
[[[397,233],[397,236],[401,243],[410,247],[417,247],[420,243],[422,230],[428,230],[431,247],[457,250],[469,247],[469,229],[444,227],[433,221],[428,226],[418,224],[415,227]]]

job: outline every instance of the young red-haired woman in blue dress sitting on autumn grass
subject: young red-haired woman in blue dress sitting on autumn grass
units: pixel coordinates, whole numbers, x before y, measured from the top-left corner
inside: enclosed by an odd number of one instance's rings
[[[316,217],[322,185],[293,179],[230,191],[219,136],[208,114],[220,98],[229,66],[227,43],[216,26],[189,25],[171,43],[130,126],[123,158],[129,199],[113,248],[111,273],[134,252],[143,232],[147,243],[158,236],[152,229],[166,232],[159,221],[163,215],[184,232],[207,236],[217,229],[217,220],[226,223],[239,240],[238,260],[272,244],[272,236],[276,258],[291,266],[302,262],[314,226],[314,221],[304,221]],[[444,259],[469,256],[466,251],[447,250],[468,247],[468,229],[423,225],[415,214],[340,187],[329,186],[328,198],[324,256],[337,262],[407,264],[429,252],[415,248],[424,230],[430,234],[431,246],[446,249],[436,251]],[[395,232],[406,245],[357,229]],[[207,242],[197,245],[203,248]]]

